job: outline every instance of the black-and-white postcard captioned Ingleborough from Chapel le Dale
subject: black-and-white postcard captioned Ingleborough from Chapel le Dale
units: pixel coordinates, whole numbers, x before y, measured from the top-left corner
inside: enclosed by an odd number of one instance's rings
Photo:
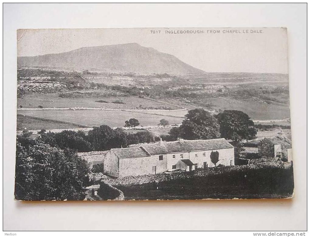
[[[16,200],[291,198],[286,28],[17,30]]]

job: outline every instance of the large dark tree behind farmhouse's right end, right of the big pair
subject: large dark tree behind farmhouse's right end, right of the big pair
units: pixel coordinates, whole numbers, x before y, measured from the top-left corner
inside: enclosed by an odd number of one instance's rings
[[[257,130],[250,117],[238,110],[224,110],[217,116],[222,138],[231,139],[235,143],[242,140],[252,140],[256,137]]]

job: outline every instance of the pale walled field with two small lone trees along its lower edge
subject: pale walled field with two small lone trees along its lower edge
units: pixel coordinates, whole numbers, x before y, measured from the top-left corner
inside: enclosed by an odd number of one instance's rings
[[[170,124],[179,124],[182,118],[169,116],[149,115],[139,112],[127,111],[102,111],[102,110],[20,110],[20,114],[38,116],[48,119],[78,123],[86,126],[108,125],[111,127],[122,127],[130,118],[139,120],[140,125],[157,125],[161,119],[166,119]],[[43,127],[44,128],[44,127]],[[29,127],[28,129],[33,129]],[[41,129],[41,128],[40,128]],[[45,128],[46,129],[46,128]]]

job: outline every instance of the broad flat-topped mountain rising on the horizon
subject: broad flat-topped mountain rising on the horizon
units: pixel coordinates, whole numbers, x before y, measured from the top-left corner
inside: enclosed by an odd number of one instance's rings
[[[173,55],[137,43],[83,47],[59,54],[17,57],[17,65],[72,69],[100,68],[122,72],[199,74]]]

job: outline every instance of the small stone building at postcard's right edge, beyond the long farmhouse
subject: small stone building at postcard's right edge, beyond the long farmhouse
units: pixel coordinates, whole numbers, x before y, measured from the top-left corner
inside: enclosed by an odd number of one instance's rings
[[[292,143],[281,136],[264,138],[258,144],[258,153],[261,156],[279,157],[283,161],[292,161]]]

